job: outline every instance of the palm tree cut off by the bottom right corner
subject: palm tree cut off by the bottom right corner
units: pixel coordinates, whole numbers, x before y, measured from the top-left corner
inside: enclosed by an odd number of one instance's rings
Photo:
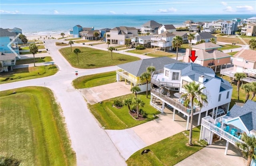
[[[241,150],[242,155],[247,158],[246,166],[250,166],[252,160],[256,159],[256,135],[248,136],[242,134],[241,142],[236,142],[236,146]]]

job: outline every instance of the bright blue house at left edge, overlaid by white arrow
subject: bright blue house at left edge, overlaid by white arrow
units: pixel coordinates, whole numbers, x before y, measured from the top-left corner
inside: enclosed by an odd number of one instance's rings
[[[17,58],[20,58],[18,47],[18,36],[20,35],[19,32],[20,31],[13,31],[13,29],[0,28],[0,52],[13,53],[17,56]]]

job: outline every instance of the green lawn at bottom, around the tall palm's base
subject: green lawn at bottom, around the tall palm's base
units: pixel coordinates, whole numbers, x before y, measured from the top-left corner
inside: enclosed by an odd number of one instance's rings
[[[184,132],[189,135],[189,131]],[[180,132],[138,150],[128,158],[126,163],[128,166],[173,166],[206,146],[198,141],[199,135],[200,126],[193,128],[192,143],[194,145],[188,146],[188,138]],[[150,152],[141,154],[142,150],[146,149],[149,149]]]

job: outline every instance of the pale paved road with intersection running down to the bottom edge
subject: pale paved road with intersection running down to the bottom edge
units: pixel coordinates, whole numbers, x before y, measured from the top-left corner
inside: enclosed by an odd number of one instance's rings
[[[106,132],[100,128],[96,119],[87,108],[87,104],[78,90],[71,84],[76,78],[75,72],[80,75],[107,72],[116,70],[116,67],[81,70],[70,64],[58,52],[53,40],[45,40],[49,53],[60,71],[49,77],[33,80],[24,80],[1,84],[0,90],[20,88],[24,86],[46,86],[50,88],[60,104],[68,132],[72,142],[72,148],[76,152],[78,166],[125,166],[122,158]]]

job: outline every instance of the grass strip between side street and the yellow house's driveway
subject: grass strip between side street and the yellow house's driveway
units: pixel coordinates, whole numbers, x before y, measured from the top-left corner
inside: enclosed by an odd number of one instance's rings
[[[116,72],[115,71],[78,77],[75,80],[73,80],[73,86],[76,89],[91,88],[94,86],[110,84],[113,82],[116,82]]]

